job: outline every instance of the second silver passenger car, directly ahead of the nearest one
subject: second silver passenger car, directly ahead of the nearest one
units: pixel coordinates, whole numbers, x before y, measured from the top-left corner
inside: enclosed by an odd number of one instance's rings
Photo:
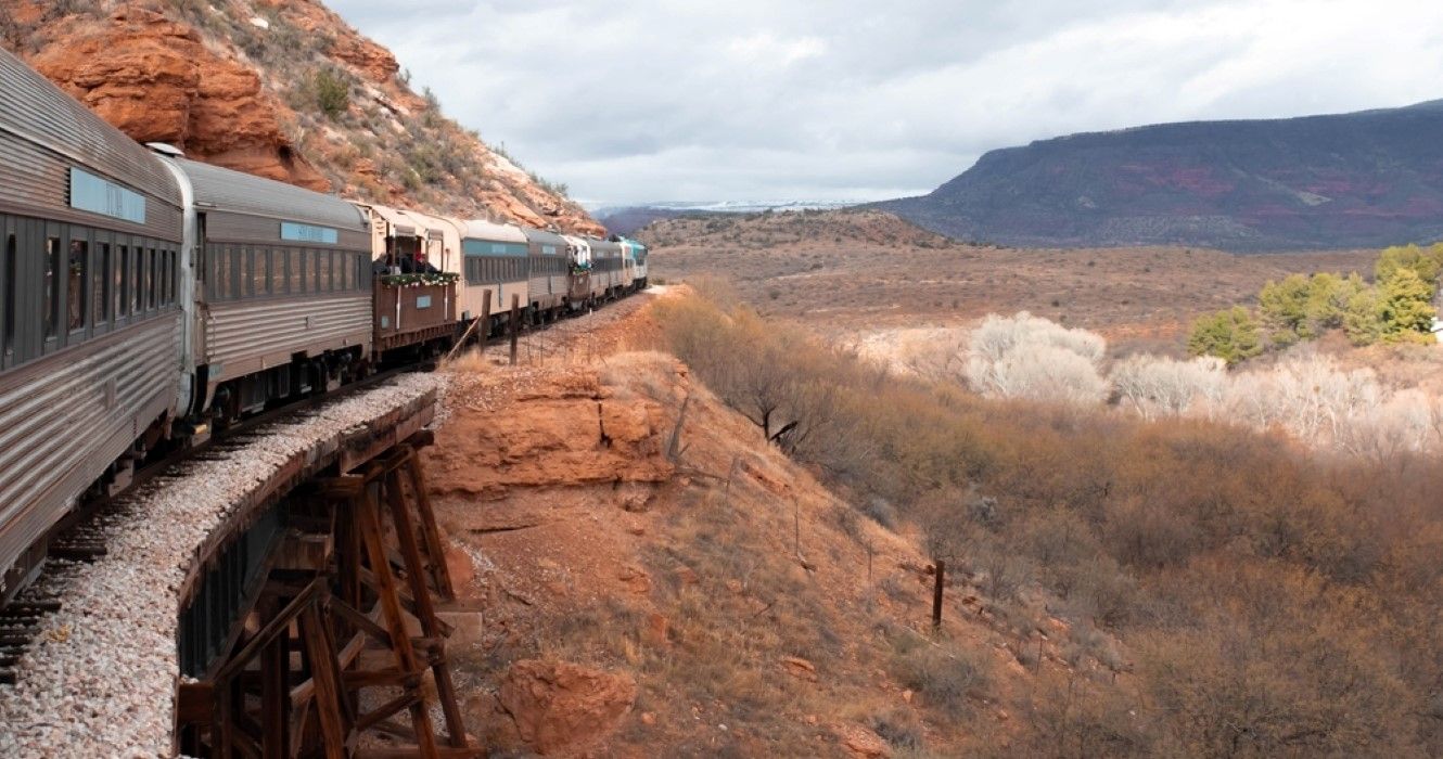
[[[195,196],[198,410],[325,390],[371,352],[371,238],[339,198],[170,159]]]

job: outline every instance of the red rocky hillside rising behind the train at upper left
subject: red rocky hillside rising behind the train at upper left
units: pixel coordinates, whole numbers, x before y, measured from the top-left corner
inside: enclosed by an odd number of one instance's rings
[[[310,189],[602,231],[312,0],[0,0],[0,45],[140,141]]]

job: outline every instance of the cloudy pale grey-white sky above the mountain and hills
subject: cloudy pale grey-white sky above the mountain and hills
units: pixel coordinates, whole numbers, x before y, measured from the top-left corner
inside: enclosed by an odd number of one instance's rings
[[[329,0],[584,202],[928,192],[1074,131],[1443,98],[1439,0]]]

